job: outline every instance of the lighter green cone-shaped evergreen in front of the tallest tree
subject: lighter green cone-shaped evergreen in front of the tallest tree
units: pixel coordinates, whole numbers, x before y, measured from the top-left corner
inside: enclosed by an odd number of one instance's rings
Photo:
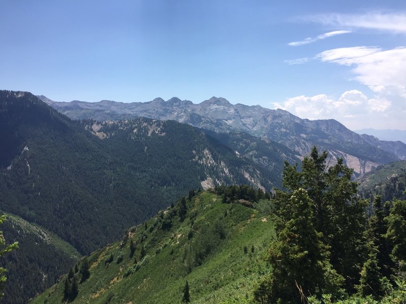
[[[313,226],[313,201],[299,188],[285,205],[293,212],[284,219],[286,225],[269,251],[271,279],[262,283],[256,299],[297,303],[309,295],[337,293],[344,280],[331,269],[327,247]]]

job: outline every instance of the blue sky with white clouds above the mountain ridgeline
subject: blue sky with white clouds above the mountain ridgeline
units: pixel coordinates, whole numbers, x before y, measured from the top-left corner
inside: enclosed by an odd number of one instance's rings
[[[1,89],[284,108],[406,130],[404,1],[0,3]]]

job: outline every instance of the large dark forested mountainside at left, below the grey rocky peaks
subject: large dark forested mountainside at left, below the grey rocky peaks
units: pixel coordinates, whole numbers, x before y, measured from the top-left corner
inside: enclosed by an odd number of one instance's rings
[[[174,121],[75,123],[29,93],[0,95],[2,209],[38,222],[81,253],[191,188],[247,183],[269,191],[280,179],[280,171],[273,175]]]

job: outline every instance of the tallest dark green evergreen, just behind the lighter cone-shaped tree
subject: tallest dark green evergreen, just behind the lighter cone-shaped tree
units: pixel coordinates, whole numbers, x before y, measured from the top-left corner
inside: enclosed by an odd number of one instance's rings
[[[367,259],[366,201],[359,200],[357,183],[351,181],[353,170],[338,159],[328,168],[327,153],[319,154],[316,147],[303,159],[301,171],[297,165],[285,163],[283,186],[290,192],[299,187],[307,190],[312,200],[313,224],[320,232],[321,241],[330,248],[332,267],[345,278],[345,287],[354,292],[362,264]],[[289,194],[277,191],[277,213],[284,218],[293,210],[284,204]],[[279,222],[283,226],[283,222]]]

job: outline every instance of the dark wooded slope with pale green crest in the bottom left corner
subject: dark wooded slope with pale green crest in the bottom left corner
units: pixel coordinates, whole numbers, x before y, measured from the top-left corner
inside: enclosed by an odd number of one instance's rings
[[[25,304],[56,283],[81,255],[69,243],[43,227],[7,214],[1,227],[8,243],[18,241],[18,250],[2,257],[8,270],[3,304]]]

